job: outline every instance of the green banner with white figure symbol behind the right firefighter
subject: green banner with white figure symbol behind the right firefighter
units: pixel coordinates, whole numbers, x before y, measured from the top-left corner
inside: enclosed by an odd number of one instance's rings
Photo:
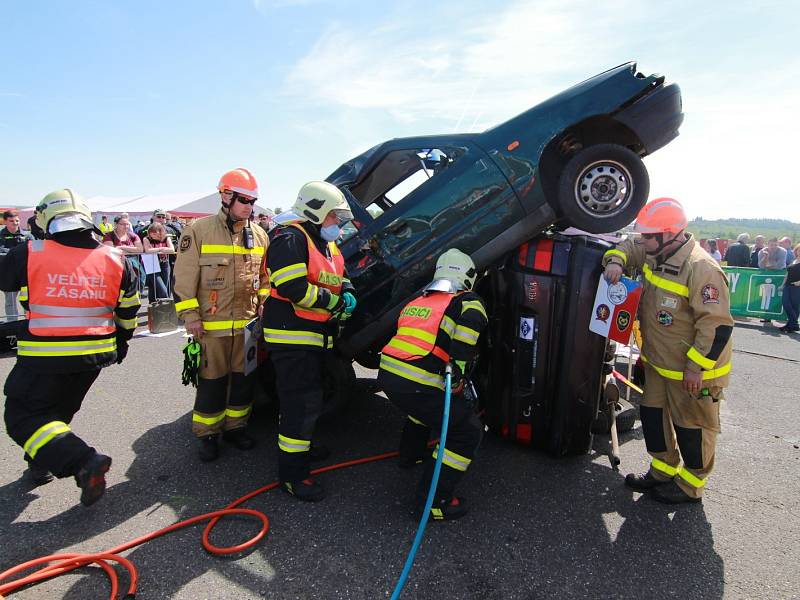
[[[786,271],[765,271],[746,267],[722,267],[728,277],[731,314],[785,321],[783,280]]]

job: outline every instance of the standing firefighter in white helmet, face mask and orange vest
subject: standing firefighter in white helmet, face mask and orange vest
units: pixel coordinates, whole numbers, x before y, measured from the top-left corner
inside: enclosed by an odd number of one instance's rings
[[[294,221],[284,221],[270,234],[267,270],[272,288],[264,307],[264,340],[280,403],[281,487],[300,500],[316,502],[325,491],[309,477],[309,465],[329,454],[311,444],[322,410],[323,364],[332,351],[338,320],[356,306],[335,243],[341,225],[353,215],[342,192],[324,181],[300,188],[291,213]]]

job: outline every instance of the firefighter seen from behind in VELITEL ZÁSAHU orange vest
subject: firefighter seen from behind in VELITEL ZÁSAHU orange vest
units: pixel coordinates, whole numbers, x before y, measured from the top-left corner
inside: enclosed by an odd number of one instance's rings
[[[46,238],[0,257],[0,289],[20,290],[28,318],[4,389],[6,431],[35,484],[73,476],[89,506],[105,492],[111,458],[69,425],[100,369],[128,353],[138,282],[122,253],[93,237],[100,232],[78,194],[48,194],[36,211]]]

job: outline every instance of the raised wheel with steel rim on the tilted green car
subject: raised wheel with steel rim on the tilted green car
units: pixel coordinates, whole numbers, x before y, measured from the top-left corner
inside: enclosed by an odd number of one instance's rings
[[[556,210],[573,227],[610,233],[630,224],[647,201],[650,177],[642,159],[618,144],[597,144],[567,162]]]

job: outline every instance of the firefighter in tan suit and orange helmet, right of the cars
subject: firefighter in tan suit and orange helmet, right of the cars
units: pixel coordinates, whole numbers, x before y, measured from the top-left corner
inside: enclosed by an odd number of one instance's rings
[[[659,502],[700,502],[714,468],[719,406],[731,370],[728,282],[722,269],[686,232],[683,207],[659,198],[636,218],[638,240],[603,257],[606,279],[641,269],[639,306],[645,364],[641,405],[645,445],[652,457],[625,484]]]

